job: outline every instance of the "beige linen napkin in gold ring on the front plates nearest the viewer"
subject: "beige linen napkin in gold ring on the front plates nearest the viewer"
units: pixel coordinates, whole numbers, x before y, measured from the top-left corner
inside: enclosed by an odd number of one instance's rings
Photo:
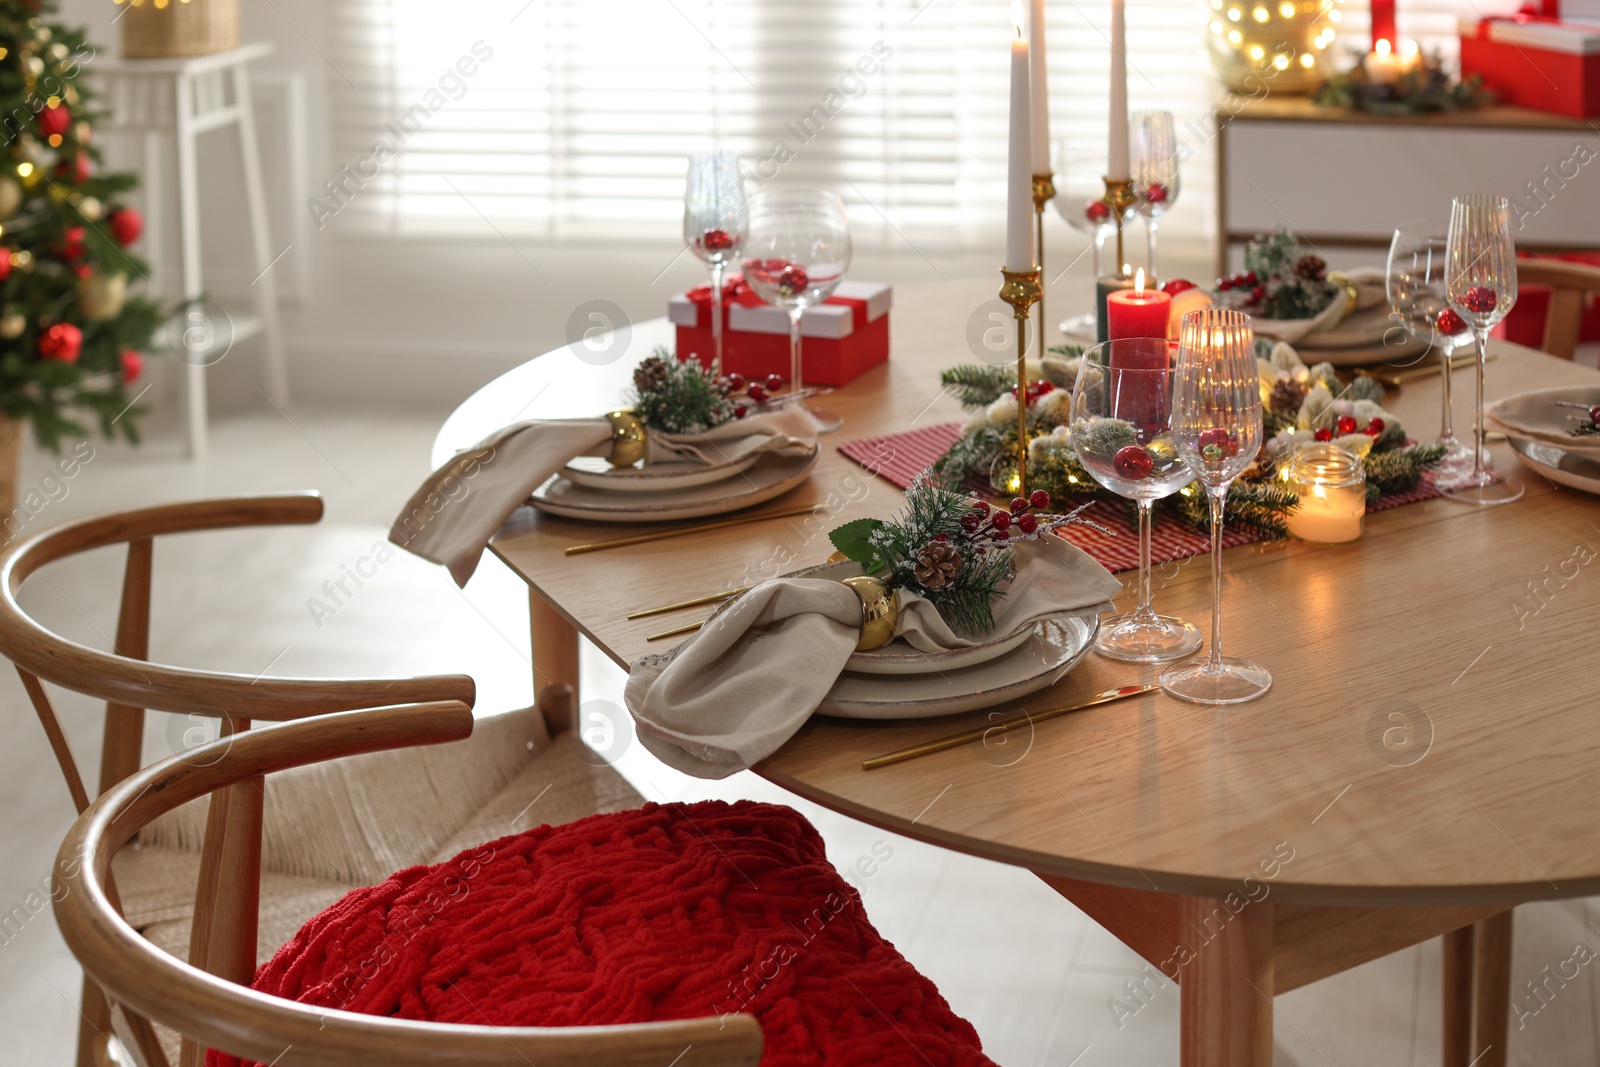
[[[1122,587],[1056,536],[1016,545],[1016,576],[995,600],[994,633],[1064,611],[1107,611]],[[920,595],[894,592],[896,640],[966,648]],[[726,777],[776,752],[834,688],[861,635],[861,600],[824,577],[774,577],[734,600],[669,653],[632,664],[624,689],[638,741],[696,777]],[[987,638],[982,638],[987,640]]]

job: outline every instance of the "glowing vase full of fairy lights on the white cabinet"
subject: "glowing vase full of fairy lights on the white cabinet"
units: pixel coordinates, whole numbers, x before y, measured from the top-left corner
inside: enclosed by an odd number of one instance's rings
[[[1310,93],[1333,74],[1342,0],[1206,0],[1211,66],[1234,93]]]

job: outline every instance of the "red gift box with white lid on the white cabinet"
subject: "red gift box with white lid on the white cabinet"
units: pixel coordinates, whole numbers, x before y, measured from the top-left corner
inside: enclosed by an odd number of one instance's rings
[[[1461,77],[1480,75],[1501,102],[1600,115],[1600,26],[1536,14],[1461,24]]]

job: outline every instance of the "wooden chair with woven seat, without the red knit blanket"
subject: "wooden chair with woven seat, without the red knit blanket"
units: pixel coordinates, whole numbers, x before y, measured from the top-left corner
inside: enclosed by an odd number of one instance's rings
[[[272,678],[170,667],[147,659],[150,563],[157,536],[306,525],[318,518],[322,501],[312,493],[168,504],[74,520],[21,539],[0,557],[0,653],[16,664],[78,813],[90,806],[91,795],[45,683],[107,702],[99,793],[139,769],[146,709],[216,718],[227,739],[248,729],[253,720],[282,721],[437,701],[474,702],[474,683],[466,675]],[[86,648],[53,633],[18,603],[18,587],[40,568],[115,544],[126,544],[128,549],[112,651]],[[427,753],[427,761],[400,765],[392,760],[357,761],[341,766],[338,773],[312,768],[317,774],[298,784],[293,774],[283,776],[290,779],[286,782],[275,782],[285,785],[285,792],[264,792],[259,782],[245,784],[219,793],[208,808],[174,811],[162,825],[147,827],[147,840],[141,841],[144,848],[130,849],[118,862],[125,889],[118,905],[125,905],[125,915],[157,942],[176,952],[187,950],[194,963],[216,974],[248,982],[258,952],[274,950],[306,918],[354,885],[381,880],[398,865],[430,862],[440,849],[453,849],[462,838],[498,835],[485,825],[512,832],[518,829],[512,825],[517,813],[525,813],[533,797],[554,785],[560,785],[555,789],[558,803],[541,805],[544,821],[638,803],[637,793],[614,771],[578,758],[579,742],[570,733],[557,736],[570,721],[570,689],[560,693],[552,688],[541,696],[542,713],[517,712],[486,720],[469,750],[442,749]],[[450,766],[440,771],[442,763]],[[408,805],[414,813],[437,800],[427,789],[416,787],[418,779],[426,784],[430,774],[450,779],[442,787],[451,793],[454,805],[446,813],[450,821],[432,825],[429,833],[408,833]],[[382,809],[392,816],[397,829],[390,832],[390,840],[368,848],[358,838],[371,821],[363,821],[358,809],[331,811],[338,805],[334,795],[365,798],[368,811]],[[274,808],[272,821],[264,819],[266,801]],[[315,817],[283,817],[285,811],[296,809],[314,811]],[[262,864],[264,821],[272,830],[266,854],[267,897],[259,896],[261,878],[248,880],[248,885],[256,893],[250,907],[269,904],[269,921],[258,929],[253,917],[248,928],[219,936],[211,925],[211,902],[221,888],[245,883],[240,877],[243,869]],[[381,835],[384,827],[373,827],[371,833]],[[254,851],[237,854],[224,849],[222,840],[254,841]],[[413,851],[403,851],[408,846]],[[107,886],[117,899],[115,888]],[[107,1062],[106,1035],[114,1025],[104,997],[90,981],[85,981],[80,1011],[77,1064],[101,1067]],[[146,1056],[162,1045],[149,1027],[138,1024],[123,1037],[125,1045],[141,1046]],[[179,1057],[186,1065],[198,1062],[198,1048],[192,1046]]]

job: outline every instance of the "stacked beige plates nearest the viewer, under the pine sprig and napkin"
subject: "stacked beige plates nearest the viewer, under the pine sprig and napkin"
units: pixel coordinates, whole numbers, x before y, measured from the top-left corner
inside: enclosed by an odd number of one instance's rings
[[[843,579],[856,563],[826,563],[789,577]],[[894,638],[853,653],[818,712],[840,718],[955,715],[1021,699],[1059,681],[1094,643],[1099,616],[1062,613],[970,648],[920,653]]]

